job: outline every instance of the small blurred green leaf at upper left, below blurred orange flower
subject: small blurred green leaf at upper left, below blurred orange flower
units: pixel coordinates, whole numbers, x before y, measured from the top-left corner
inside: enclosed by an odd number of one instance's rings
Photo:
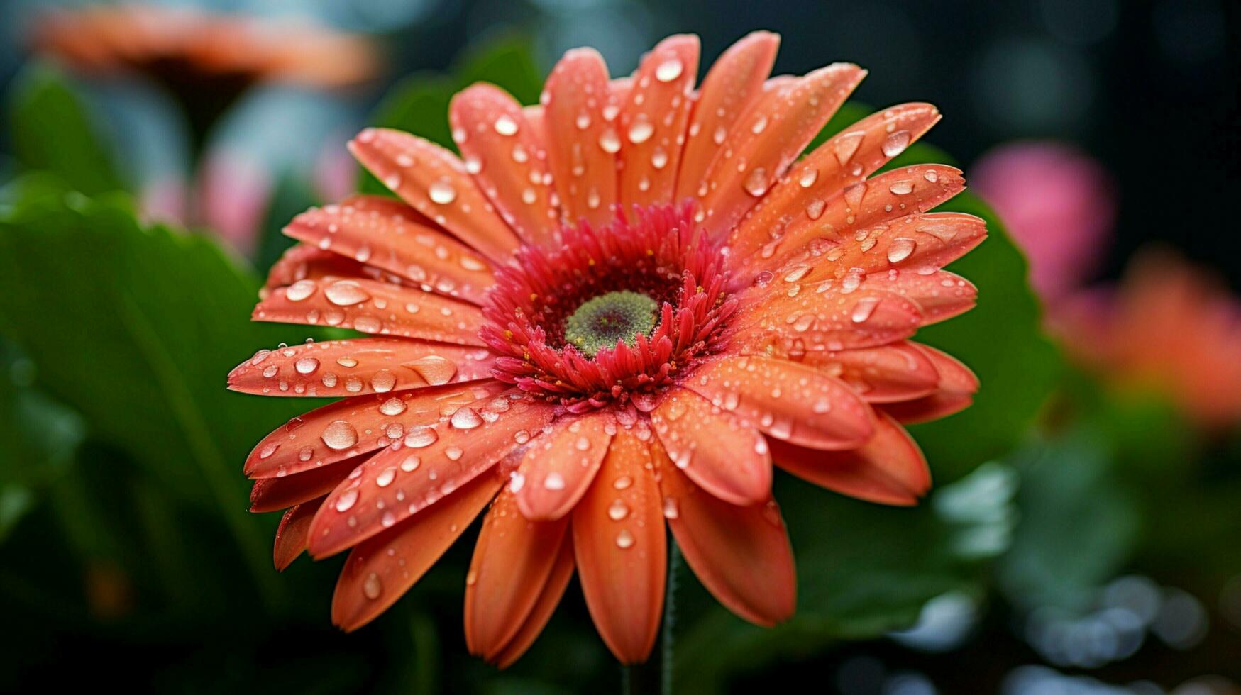
[[[52,171],[87,195],[124,189],[86,104],[61,73],[43,65],[26,68],[9,105],[11,141],[22,169]]]

